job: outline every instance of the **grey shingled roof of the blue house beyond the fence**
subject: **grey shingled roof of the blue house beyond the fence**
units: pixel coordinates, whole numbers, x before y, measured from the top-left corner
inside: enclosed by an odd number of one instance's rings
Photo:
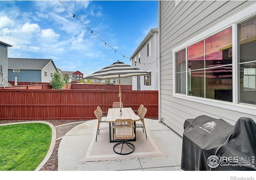
[[[34,69],[34,70],[40,69],[41,70],[41,69],[44,69],[46,65],[48,65],[51,61],[52,59],[8,58],[8,69]]]

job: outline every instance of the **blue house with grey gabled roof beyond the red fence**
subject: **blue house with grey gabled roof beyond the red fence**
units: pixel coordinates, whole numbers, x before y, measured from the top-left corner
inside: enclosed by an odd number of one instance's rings
[[[56,71],[52,59],[8,58],[8,81],[50,83]]]

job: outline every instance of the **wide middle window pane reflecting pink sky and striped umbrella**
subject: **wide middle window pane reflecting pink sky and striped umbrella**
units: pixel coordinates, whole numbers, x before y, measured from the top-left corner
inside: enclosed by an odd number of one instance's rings
[[[188,94],[232,102],[231,27],[188,47]]]

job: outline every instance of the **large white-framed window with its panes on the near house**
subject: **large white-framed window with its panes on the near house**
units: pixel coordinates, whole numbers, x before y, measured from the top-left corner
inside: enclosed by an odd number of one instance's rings
[[[244,17],[255,8],[172,49],[174,97],[227,109],[240,104],[236,111],[251,113],[244,105],[256,105],[256,16]]]

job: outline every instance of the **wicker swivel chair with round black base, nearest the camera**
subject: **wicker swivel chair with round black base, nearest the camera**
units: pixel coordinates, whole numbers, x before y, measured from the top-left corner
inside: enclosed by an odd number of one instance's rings
[[[126,141],[126,140],[130,140],[130,139],[134,139],[134,137],[135,137],[135,135],[134,135],[132,119],[116,119],[114,139],[122,140],[122,142],[119,142],[114,145],[114,147],[113,147],[114,152],[116,154],[120,154],[120,155],[131,154],[132,152],[134,152],[134,149],[135,149],[134,145],[131,144],[130,142]],[[120,150],[121,144],[122,144],[122,148]],[[124,145],[127,145],[127,146],[124,146]],[[122,153],[123,147],[125,148],[126,152]],[[117,152],[117,150],[118,150],[118,152]]]

